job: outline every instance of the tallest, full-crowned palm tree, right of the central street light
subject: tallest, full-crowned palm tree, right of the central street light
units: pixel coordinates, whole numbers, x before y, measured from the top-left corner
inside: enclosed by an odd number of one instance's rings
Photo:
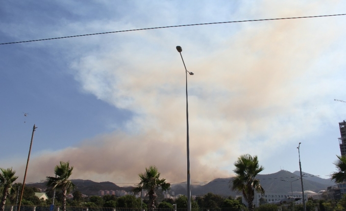
[[[262,195],[264,189],[260,181],[256,179],[256,175],[264,170],[264,167],[258,164],[257,156],[252,157],[249,154],[241,155],[234,163],[233,170],[236,176],[229,181],[229,188],[233,191],[243,192],[244,199],[248,203],[248,210],[253,211],[253,199],[255,190]]]

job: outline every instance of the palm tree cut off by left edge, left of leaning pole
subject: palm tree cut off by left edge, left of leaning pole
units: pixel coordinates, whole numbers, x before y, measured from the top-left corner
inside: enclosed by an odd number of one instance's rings
[[[12,190],[12,184],[17,180],[16,171],[13,171],[12,168],[3,169],[0,168],[0,189],[2,190],[2,198],[1,198],[1,207],[0,211],[4,211],[6,197]]]

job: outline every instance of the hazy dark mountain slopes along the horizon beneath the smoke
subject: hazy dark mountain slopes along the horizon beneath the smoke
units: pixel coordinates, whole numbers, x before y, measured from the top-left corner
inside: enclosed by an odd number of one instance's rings
[[[328,179],[322,179],[319,177],[306,176],[311,175],[308,173],[304,173],[305,177],[303,177],[304,190],[312,190],[318,192],[320,190],[326,190],[327,187],[335,185],[335,183],[331,182]],[[301,191],[301,183],[300,180],[297,180],[299,177],[295,173],[291,173],[289,171],[280,170],[276,173],[272,174],[259,174],[257,176],[261,181],[262,187],[266,192],[291,192],[291,183],[286,181],[294,181],[292,182],[293,191]],[[241,193],[237,193],[231,191],[229,188],[229,181],[231,178],[218,178],[210,181],[205,185],[191,185],[191,194],[192,195],[204,195],[208,192],[212,192],[215,194],[223,195],[223,196],[236,196],[241,195]],[[296,181],[295,181],[296,180]],[[74,184],[77,186],[76,190],[81,191],[86,195],[98,195],[99,190],[125,190],[130,191],[132,187],[120,187],[115,185],[112,182],[93,182],[91,180],[72,180]],[[37,187],[37,188],[46,188],[44,183],[35,183],[35,184],[27,184],[28,186]],[[186,194],[186,183],[179,183],[172,185],[172,191],[176,194]]]

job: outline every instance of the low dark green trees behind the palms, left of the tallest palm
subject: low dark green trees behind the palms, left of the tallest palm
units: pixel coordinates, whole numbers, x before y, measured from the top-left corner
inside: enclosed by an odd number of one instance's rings
[[[13,191],[8,195],[6,199],[6,206],[15,206],[17,204],[18,189],[22,184],[14,184]],[[62,192],[54,191],[50,188],[46,190],[46,194],[49,197],[47,200],[39,199],[35,196],[35,192],[40,192],[38,188],[25,186],[23,192],[22,205],[24,206],[49,206],[53,203],[57,207],[61,207],[62,204]],[[187,207],[187,197],[185,195],[178,196],[175,200],[172,198],[164,199],[163,194],[158,192],[158,197],[155,201],[156,208],[171,208],[173,204],[176,204],[177,208]],[[149,198],[144,197],[143,201],[141,198],[136,198],[133,195],[115,196],[115,195],[104,195],[104,196],[87,196],[83,197],[83,194],[76,190],[72,193],[73,198],[66,200],[67,207],[83,207],[83,208],[143,208],[148,210]],[[242,204],[241,197],[237,199],[229,196],[223,197],[214,193],[207,193],[204,196],[197,196],[191,200],[191,207],[196,208],[211,208],[212,210],[221,210],[222,208],[229,208],[231,211],[241,211],[245,206]],[[228,209],[228,210],[229,210]]]

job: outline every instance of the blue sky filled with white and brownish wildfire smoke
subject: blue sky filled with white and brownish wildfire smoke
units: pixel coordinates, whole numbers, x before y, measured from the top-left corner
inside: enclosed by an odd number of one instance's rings
[[[195,23],[345,14],[343,0],[0,1],[0,43]],[[192,184],[234,176],[240,155],[271,174],[328,178],[346,119],[346,16],[223,23],[0,45],[0,167],[139,182],[155,165]],[[26,117],[25,117],[25,114]]]

